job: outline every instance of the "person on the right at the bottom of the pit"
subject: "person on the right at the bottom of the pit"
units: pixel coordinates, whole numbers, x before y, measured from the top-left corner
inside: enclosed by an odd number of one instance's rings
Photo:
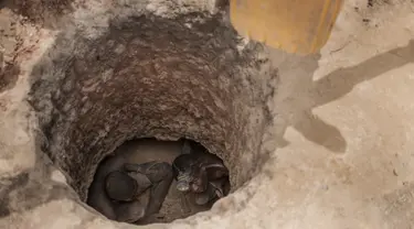
[[[194,194],[197,205],[206,205],[230,192],[229,170],[223,161],[195,142],[184,141],[181,155],[172,163],[176,188]]]

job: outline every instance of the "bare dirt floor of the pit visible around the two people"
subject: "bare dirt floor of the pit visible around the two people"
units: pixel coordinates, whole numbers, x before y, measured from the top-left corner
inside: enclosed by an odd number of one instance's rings
[[[172,161],[181,153],[182,143],[174,141],[157,141],[155,139],[132,140],[120,145],[115,153],[123,154],[130,163],[145,163],[149,161]],[[200,211],[209,210],[210,206],[192,204],[192,196],[180,194],[176,190],[176,181],[172,182],[170,192],[159,211],[139,225],[153,222],[170,222],[174,219],[185,218]]]

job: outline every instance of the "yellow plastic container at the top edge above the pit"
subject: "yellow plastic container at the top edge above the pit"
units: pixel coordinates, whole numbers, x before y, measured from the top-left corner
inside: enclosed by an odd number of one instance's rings
[[[230,17],[246,37],[289,53],[318,52],[343,0],[231,0]]]

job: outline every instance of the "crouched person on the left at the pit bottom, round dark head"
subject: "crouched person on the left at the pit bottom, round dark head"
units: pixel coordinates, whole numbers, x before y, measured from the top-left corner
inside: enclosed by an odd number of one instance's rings
[[[172,181],[166,162],[130,164],[108,156],[96,171],[87,204],[108,219],[138,223],[160,210]]]

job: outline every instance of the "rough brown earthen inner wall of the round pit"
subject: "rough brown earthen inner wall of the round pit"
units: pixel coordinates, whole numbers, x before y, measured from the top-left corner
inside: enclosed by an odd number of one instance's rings
[[[96,29],[96,28],[95,28]],[[86,201],[102,160],[131,139],[192,139],[220,156],[232,192],[265,160],[277,74],[221,14],[151,14],[66,28],[32,72],[42,151]]]

